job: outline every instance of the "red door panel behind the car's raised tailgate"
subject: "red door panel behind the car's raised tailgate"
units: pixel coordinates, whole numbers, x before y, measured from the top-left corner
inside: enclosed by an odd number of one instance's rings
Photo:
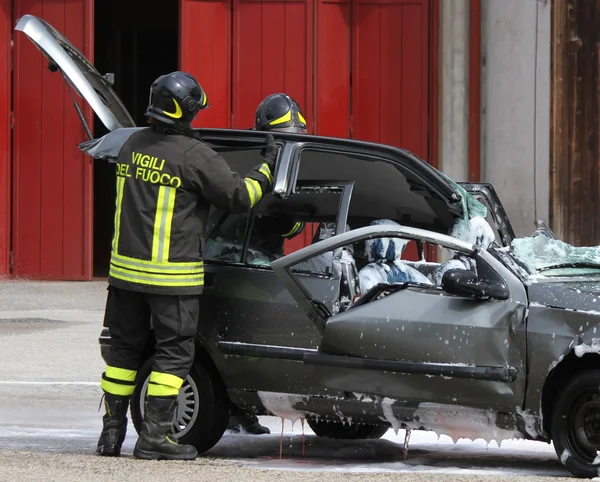
[[[92,0],[15,0],[15,19],[44,18],[92,60]],[[14,25],[14,24],[13,24]],[[12,30],[12,26],[11,26]],[[91,279],[92,164],[62,77],[23,34],[14,36],[13,274]],[[85,101],[88,124],[92,111]]]

